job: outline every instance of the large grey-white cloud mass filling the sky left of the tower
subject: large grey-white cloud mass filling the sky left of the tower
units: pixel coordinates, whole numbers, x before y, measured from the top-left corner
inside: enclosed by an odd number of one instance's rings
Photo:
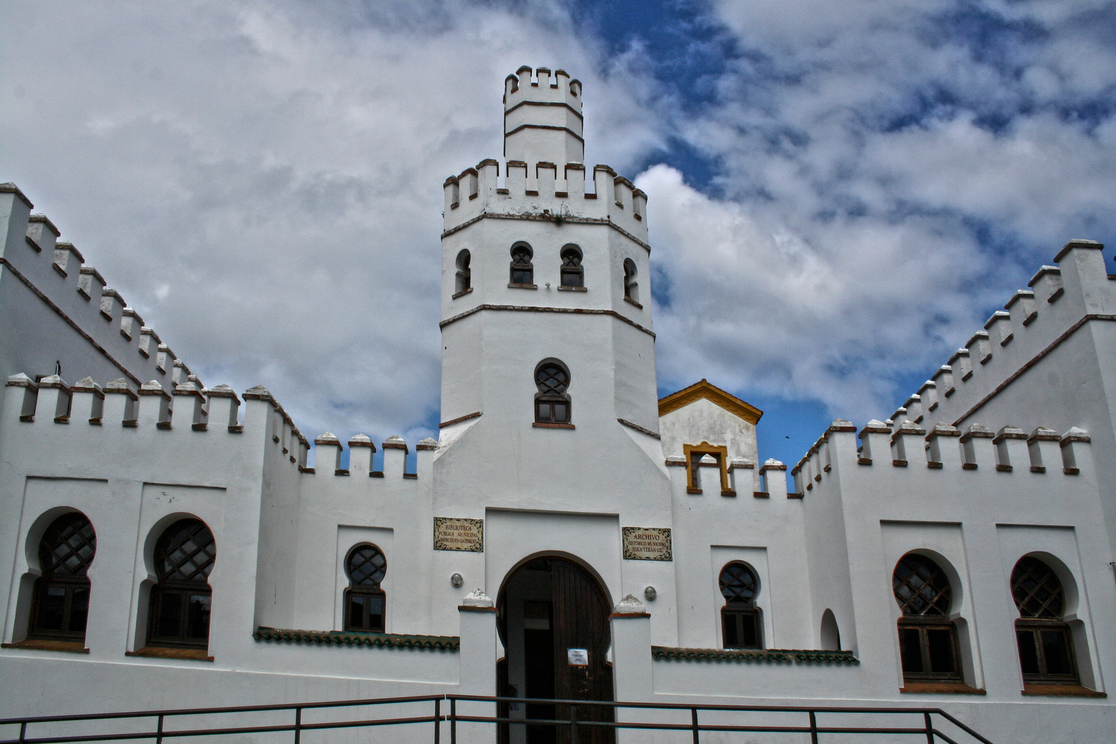
[[[506,75],[580,77],[616,165],[656,138],[647,85],[546,4],[6,3],[0,29],[3,180],[206,384],[262,383],[308,435],[432,433],[441,184],[500,155]]]

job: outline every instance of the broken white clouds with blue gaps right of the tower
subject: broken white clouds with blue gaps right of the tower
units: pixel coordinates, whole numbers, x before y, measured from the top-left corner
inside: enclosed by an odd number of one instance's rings
[[[886,415],[1068,239],[1116,232],[1113,4],[719,3],[738,55],[679,127],[724,199],[641,180],[661,378]]]

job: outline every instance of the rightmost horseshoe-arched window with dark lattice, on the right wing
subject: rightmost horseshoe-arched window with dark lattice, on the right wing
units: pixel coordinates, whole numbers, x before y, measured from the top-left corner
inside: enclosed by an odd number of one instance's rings
[[[1066,592],[1049,566],[1024,555],[1011,571],[1011,596],[1019,608],[1016,641],[1024,683],[1077,685],[1074,637],[1066,625]]]

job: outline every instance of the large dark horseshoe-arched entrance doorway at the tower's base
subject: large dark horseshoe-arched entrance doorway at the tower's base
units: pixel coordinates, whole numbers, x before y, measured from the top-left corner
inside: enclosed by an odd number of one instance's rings
[[[560,555],[541,555],[512,569],[497,598],[498,627],[504,658],[497,674],[500,694],[575,700],[612,700],[613,667],[608,664],[612,612],[604,588],[580,563]],[[569,705],[506,704],[500,715],[512,718],[569,721]],[[612,721],[609,708],[581,706],[578,721]],[[565,744],[569,726],[504,724],[502,744]],[[580,744],[612,744],[610,728],[579,726]]]

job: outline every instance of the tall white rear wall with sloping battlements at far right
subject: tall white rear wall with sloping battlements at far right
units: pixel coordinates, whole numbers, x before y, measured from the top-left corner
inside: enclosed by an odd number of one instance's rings
[[[891,421],[933,431],[982,423],[1087,434],[1105,523],[1116,545],[1116,276],[1104,245],[1072,240],[1036,271]]]

